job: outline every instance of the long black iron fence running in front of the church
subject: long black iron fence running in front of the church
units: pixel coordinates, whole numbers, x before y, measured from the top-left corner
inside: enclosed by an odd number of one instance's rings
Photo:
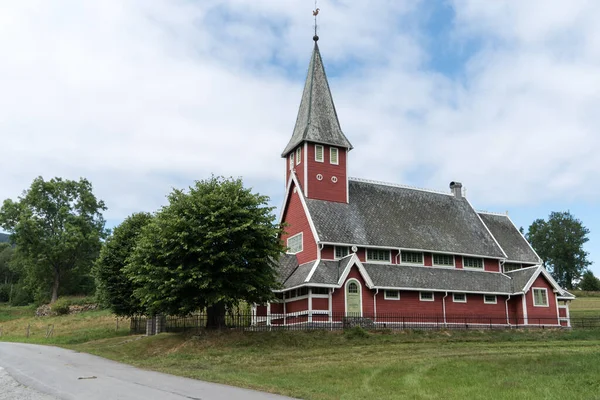
[[[209,323],[210,322],[210,323]],[[513,316],[378,314],[377,316],[332,313],[269,314],[227,313],[214,325],[206,314],[187,317],[157,316],[131,318],[131,333],[200,332],[205,329],[271,331],[271,330],[342,330],[356,326],[364,329],[507,329],[507,328],[582,328],[600,329],[600,316],[557,319],[533,317],[525,320]],[[211,326],[211,324],[213,324]]]

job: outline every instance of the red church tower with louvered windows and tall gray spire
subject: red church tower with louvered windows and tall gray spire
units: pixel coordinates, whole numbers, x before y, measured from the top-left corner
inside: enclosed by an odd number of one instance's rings
[[[317,44],[308,74],[294,133],[281,154],[286,159],[286,182],[296,174],[309,199],[348,203],[348,152],[352,144],[344,136],[335,111],[323,60]]]

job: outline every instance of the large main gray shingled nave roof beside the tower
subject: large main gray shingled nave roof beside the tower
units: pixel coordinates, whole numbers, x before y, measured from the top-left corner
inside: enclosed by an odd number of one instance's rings
[[[466,199],[349,181],[350,203],[307,199],[322,242],[504,258]]]

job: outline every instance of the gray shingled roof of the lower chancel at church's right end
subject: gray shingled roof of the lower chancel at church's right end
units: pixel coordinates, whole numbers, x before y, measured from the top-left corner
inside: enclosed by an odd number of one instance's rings
[[[532,264],[541,262],[506,215],[479,213],[479,216],[506,253],[508,260]]]

